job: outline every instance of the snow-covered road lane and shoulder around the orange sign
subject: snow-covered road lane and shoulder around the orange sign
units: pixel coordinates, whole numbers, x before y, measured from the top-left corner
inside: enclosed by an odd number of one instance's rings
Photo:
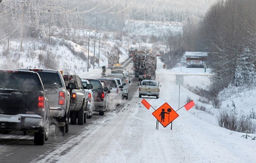
[[[192,70],[192,69],[191,69]],[[189,96],[195,103],[199,96],[190,92],[186,85],[204,87],[208,82],[203,69],[200,76],[184,76],[184,86],[180,86],[180,106]],[[175,85],[174,70],[162,69],[157,62],[157,77],[160,81],[160,98],[145,97],[156,109],[167,102],[178,109],[179,86]],[[182,72],[184,73],[184,72]],[[189,72],[187,72],[189,73]],[[142,98],[135,93],[130,103],[117,114],[108,116],[91,131],[81,143],[76,144],[58,163],[255,163],[256,142],[241,137],[243,133],[231,132],[195,116],[194,107],[177,111],[179,117],[170,125],[155,129],[156,119],[141,104]],[[200,112],[200,111],[196,111]],[[214,119],[214,118],[213,118]],[[80,136],[77,136],[79,139]],[[72,141],[72,140],[71,140]],[[70,143],[67,142],[67,143]],[[54,152],[53,152],[54,153]],[[56,151],[55,153],[58,153]],[[48,158],[54,157],[49,154]],[[47,159],[42,159],[45,162]]]

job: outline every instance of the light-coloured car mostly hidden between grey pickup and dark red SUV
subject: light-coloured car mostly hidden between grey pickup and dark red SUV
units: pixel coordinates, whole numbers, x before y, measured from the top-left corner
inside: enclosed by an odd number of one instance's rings
[[[87,107],[86,107],[86,111],[88,111],[88,116],[87,118],[91,118],[93,116],[93,112],[95,110],[95,106],[94,106],[94,98],[93,98],[93,86],[91,85],[91,89],[89,89],[89,87],[87,88],[87,86],[89,86],[90,82],[86,79],[81,79],[83,86],[84,86],[84,90],[87,96]]]

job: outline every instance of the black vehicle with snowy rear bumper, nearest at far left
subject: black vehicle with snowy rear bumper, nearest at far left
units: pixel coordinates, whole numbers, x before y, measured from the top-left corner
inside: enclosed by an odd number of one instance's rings
[[[50,135],[50,107],[36,72],[0,70],[0,132],[34,132],[34,144]]]

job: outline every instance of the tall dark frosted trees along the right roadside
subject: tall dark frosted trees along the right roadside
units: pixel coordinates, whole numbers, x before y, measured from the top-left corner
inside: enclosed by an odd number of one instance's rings
[[[221,0],[201,19],[187,17],[183,34],[169,37],[171,67],[185,51],[208,52],[215,96],[228,85],[255,87],[255,6],[252,0]]]

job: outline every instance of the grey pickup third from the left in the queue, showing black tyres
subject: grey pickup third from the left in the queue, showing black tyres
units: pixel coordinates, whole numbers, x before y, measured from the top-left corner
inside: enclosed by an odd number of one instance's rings
[[[78,75],[67,74],[63,76],[65,85],[68,86],[70,83],[75,84],[75,87],[67,90],[71,94],[70,100],[70,124],[83,125],[86,122],[87,99],[86,93],[83,87],[83,83]]]

